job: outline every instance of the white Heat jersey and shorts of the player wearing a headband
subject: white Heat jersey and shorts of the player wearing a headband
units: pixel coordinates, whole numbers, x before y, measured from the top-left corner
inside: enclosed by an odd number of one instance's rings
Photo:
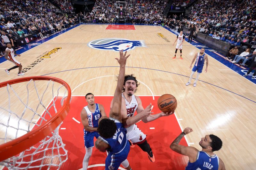
[[[122,93],[122,96],[124,97],[123,93]],[[127,110],[127,117],[134,116],[134,113],[138,108],[138,102],[135,96],[132,95],[132,100],[130,103],[125,99],[125,97],[124,97],[124,101],[125,101],[125,107]],[[130,140],[133,144],[143,142],[144,139],[146,138],[146,135],[137,127],[136,124],[133,124],[127,127],[126,130],[127,130],[126,138]]]

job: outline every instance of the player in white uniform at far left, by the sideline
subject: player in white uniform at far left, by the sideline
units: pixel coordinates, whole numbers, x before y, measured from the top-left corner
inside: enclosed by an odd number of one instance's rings
[[[14,58],[14,55],[20,56],[20,54],[15,54],[15,53],[14,53],[14,49],[12,48],[12,45],[11,45],[10,43],[7,43],[6,46],[7,46],[7,48],[6,48],[6,50],[5,50],[5,56],[4,56],[4,58],[5,58],[6,60],[9,60],[9,61],[11,61],[12,63],[14,63],[15,66],[12,67],[12,68],[9,68],[9,69],[5,69],[5,72],[6,72],[7,74],[10,74],[10,70],[19,67],[18,75],[24,75],[24,73],[21,73],[22,65],[20,64],[19,61],[17,61],[17,60]]]

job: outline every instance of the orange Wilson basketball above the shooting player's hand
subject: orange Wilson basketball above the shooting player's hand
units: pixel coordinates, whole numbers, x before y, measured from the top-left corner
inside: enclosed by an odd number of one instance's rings
[[[170,113],[177,107],[177,100],[170,94],[164,94],[157,100],[158,108],[164,113]]]

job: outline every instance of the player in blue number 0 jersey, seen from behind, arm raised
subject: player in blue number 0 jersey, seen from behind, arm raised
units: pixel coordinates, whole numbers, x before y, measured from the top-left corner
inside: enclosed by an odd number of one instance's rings
[[[122,88],[124,83],[124,73],[126,52],[120,52],[120,58],[116,58],[120,65],[117,86],[113,98],[113,104],[108,117],[101,117],[99,121],[98,131],[100,137],[96,140],[95,146],[101,152],[108,151],[108,156],[105,161],[105,170],[117,170],[120,164],[127,158],[130,151],[130,144],[126,139],[126,129],[123,124],[126,124],[126,119],[122,120],[121,105],[122,105]],[[148,111],[148,115],[150,111]],[[128,164],[129,165],[129,164]],[[126,166],[125,166],[126,167]],[[126,169],[131,169],[130,166]]]

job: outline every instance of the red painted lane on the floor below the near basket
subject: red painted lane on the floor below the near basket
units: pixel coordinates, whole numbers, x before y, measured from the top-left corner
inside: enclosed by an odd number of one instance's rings
[[[110,102],[112,96],[95,96],[95,103],[100,103],[104,106],[107,116],[109,115]],[[160,113],[157,107],[157,99],[159,96],[155,96],[153,100],[152,96],[140,96],[145,108],[149,103],[152,103],[154,114]],[[59,100],[59,99],[58,99]],[[80,112],[84,106],[87,105],[84,96],[72,96],[70,104],[70,112],[63,121],[60,128],[66,128],[65,130],[59,130],[59,134],[64,144],[65,149],[68,150],[68,160],[62,164],[60,169],[80,169],[82,168],[82,162],[84,159],[84,133],[82,123],[77,123],[73,117],[81,122]],[[60,106],[57,106],[60,107]],[[171,142],[181,133],[180,126],[174,115],[168,117],[161,117],[153,122],[147,124],[140,121],[137,123],[138,127],[144,134],[147,135],[147,141],[152,148],[156,161],[153,163],[148,159],[146,152],[143,152],[139,146],[135,145],[131,148],[128,161],[133,170],[184,170],[188,163],[188,157],[182,156],[170,149]],[[149,129],[154,127],[155,129]],[[94,142],[96,138],[94,138]],[[187,145],[187,142],[182,138],[181,145]],[[93,147],[92,157],[89,161],[90,165],[105,164],[106,153],[100,152]],[[91,167],[89,170],[104,170],[103,166]]]

